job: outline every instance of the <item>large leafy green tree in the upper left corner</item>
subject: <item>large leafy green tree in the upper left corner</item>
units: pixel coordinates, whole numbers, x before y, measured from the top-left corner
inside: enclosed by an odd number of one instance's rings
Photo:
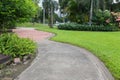
[[[17,22],[23,22],[34,17],[37,6],[32,0],[1,0],[0,28],[10,28]]]

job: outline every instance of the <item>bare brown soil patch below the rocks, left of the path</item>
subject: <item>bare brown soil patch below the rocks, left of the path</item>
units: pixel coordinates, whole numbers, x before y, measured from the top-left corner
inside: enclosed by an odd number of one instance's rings
[[[31,58],[26,62],[17,65],[14,63],[1,65],[2,68],[0,69],[0,80],[14,80],[21,72],[30,66],[34,58],[35,55],[31,56]]]

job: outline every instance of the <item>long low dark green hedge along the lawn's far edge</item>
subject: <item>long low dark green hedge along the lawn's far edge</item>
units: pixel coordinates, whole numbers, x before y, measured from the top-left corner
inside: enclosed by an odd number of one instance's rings
[[[79,31],[118,31],[118,27],[113,26],[98,26],[98,25],[80,25],[77,23],[66,23],[58,25],[58,29],[61,30],[79,30]]]

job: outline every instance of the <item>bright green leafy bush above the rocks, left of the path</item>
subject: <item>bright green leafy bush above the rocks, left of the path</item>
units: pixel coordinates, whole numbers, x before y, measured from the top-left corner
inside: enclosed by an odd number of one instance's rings
[[[36,44],[26,38],[19,38],[16,34],[5,33],[0,35],[0,53],[13,58],[33,54]]]

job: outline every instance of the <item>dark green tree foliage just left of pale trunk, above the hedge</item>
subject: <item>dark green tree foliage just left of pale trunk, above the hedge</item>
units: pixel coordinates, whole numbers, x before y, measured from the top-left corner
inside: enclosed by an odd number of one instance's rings
[[[88,22],[90,0],[70,0],[67,4],[67,17],[72,22]]]

